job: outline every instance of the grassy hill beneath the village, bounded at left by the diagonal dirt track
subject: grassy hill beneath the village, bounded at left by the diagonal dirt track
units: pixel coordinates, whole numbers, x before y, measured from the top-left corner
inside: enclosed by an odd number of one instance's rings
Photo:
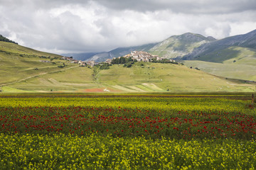
[[[144,64],[144,66],[142,66]],[[138,62],[131,68],[113,65],[100,70],[73,67],[9,84],[6,91],[146,92],[146,91],[252,91],[252,84],[215,77],[176,64]]]

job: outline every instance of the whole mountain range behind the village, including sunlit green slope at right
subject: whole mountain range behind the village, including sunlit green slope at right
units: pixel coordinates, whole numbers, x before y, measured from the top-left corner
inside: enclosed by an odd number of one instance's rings
[[[90,57],[81,55],[79,59],[104,62],[107,58],[124,56],[134,50],[180,60],[187,67],[198,68],[221,77],[256,81],[256,30],[220,40],[195,33],[184,33],[157,43],[119,47]]]

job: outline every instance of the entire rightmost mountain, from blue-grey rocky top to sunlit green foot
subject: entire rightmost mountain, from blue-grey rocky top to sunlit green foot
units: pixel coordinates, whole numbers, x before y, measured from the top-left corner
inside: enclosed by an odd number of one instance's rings
[[[201,45],[183,59],[210,74],[256,81],[256,30]]]

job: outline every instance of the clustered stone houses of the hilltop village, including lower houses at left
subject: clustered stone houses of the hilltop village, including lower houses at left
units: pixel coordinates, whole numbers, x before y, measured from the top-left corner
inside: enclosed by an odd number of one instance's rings
[[[166,60],[163,57],[159,57],[158,55],[151,55],[149,52],[144,52],[144,51],[132,51],[128,55],[124,55],[124,58],[130,58],[132,61],[137,61],[137,62],[160,62]],[[120,59],[121,57],[114,57],[112,59],[107,59],[104,63],[107,64],[113,64],[113,60]],[[77,63],[80,64],[80,66],[86,66],[89,65],[90,67],[93,67],[97,64],[100,64],[99,62],[95,61],[87,61],[87,62],[82,62],[80,60],[75,60],[73,57],[62,57],[62,60],[68,60],[72,63]],[[175,60],[166,60],[167,62],[175,62]]]

